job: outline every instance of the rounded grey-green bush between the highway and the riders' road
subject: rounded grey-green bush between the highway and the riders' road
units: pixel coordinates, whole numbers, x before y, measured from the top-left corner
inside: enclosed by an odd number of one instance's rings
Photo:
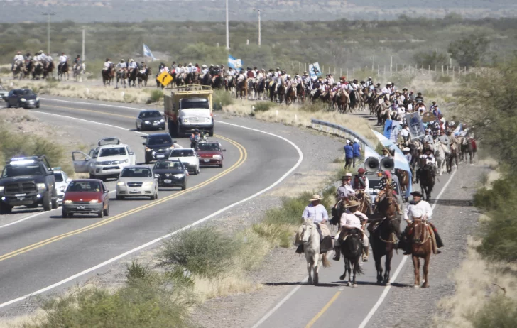
[[[183,266],[190,273],[214,278],[231,269],[240,243],[214,227],[187,229],[163,242],[160,258],[165,264]]]

